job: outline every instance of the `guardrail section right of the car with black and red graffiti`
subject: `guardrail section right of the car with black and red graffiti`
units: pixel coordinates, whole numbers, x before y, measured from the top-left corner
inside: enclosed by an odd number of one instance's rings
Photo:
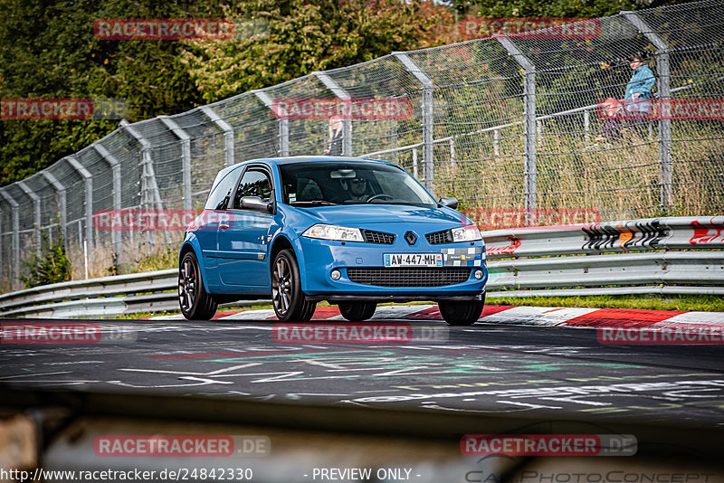
[[[496,230],[483,237],[489,297],[724,295],[724,216]]]

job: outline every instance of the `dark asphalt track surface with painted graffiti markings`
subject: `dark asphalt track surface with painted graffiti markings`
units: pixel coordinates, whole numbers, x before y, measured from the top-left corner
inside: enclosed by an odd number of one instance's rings
[[[5,322],[8,322],[5,320]],[[27,322],[24,320],[23,322]],[[724,347],[605,346],[595,329],[376,319],[413,340],[285,343],[270,320],[83,320],[98,344],[0,346],[14,388],[331,403],[720,428]],[[347,322],[328,322],[335,326]],[[121,342],[118,336],[121,335]]]

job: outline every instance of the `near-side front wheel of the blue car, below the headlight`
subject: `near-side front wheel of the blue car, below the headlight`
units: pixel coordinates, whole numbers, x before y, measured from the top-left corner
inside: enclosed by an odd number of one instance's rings
[[[271,304],[281,322],[308,322],[317,307],[301,291],[299,264],[289,249],[277,253],[271,264]]]

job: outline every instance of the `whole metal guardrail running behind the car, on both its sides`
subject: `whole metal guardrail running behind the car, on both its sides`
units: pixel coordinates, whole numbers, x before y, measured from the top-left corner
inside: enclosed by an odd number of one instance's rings
[[[491,274],[487,285],[490,298],[724,295],[724,216],[541,226],[482,234]],[[176,287],[175,269],[46,285],[0,295],[0,317],[176,310]]]

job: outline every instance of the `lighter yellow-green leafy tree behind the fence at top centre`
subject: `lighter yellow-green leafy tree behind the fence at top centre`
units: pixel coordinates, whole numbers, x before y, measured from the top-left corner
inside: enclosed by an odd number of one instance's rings
[[[186,41],[184,62],[207,101],[440,45],[452,33],[450,11],[419,0],[251,0],[226,14],[263,29],[232,42]]]

